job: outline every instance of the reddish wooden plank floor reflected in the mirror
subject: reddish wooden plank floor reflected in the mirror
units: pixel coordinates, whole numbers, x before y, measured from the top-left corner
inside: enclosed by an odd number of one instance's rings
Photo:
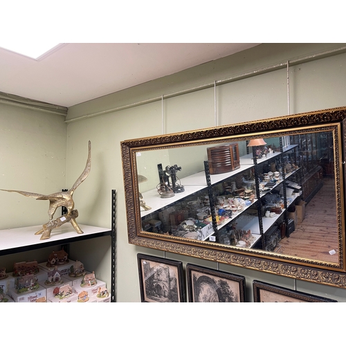
[[[338,230],[333,178],[324,178],[323,186],[305,207],[305,217],[289,237],[281,240],[275,252],[323,262],[338,262]],[[329,251],[335,250],[331,255]]]

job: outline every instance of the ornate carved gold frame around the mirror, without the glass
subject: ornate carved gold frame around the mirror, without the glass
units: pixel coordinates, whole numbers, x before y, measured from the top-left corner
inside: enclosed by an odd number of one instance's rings
[[[211,260],[235,266],[242,266],[257,271],[294,277],[319,284],[346,287],[345,261],[345,152],[346,152],[346,107],[325,109],[292,116],[269,118],[253,122],[241,122],[186,131],[164,136],[137,138],[120,143],[122,151],[123,179],[125,185],[125,203],[127,211],[127,229],[129,244],[156,248],[161,251],[179,253],[204,260]],[[336,162],[336,203],[338,208],[338,226],[340,233],[338,242],[340,257],[338,264],[320,263],[300,257],[290,257],[265,251],[251,251],[242,248],[228,248],[223,244],[203,243],[191,239],[181,240],[176,237],[163,237],[146,233],[140,227],[140,206],[138,178],[136,174],[136,152],[182,145],[199,145],[206,140],[222,140],[223,138],[251,139],[268,133],[282,131],[284,134],[299,133],[313,127],[335,127],[340,140],[335,140]]]

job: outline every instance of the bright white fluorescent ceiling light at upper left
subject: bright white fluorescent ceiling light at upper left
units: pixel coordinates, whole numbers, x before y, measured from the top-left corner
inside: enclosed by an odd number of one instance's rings
[[[12,51],[21,55],[25,55],[26,57],[31,57],[33,59],[38,59],[42,55],[45,55],[49,51],[51,51],[56,46],[59,46],[58,43],[31,43],[31,42],[7,42],[6,44],[2,44],[0,42],[0,47],[7,49],[8,51]]]

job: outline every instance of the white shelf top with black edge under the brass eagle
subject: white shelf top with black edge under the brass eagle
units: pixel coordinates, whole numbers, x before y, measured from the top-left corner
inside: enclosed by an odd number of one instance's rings
[[[21,228],[8,228],[0,230],[0,255],[4,253],[28,251],[34,248],[54,246],[63,242],[89,239],[105,234],[110,235],[109,228],[79,225],[83,234],[78,234],[71,224],[63,224],[51,232],[51,238],[40,240],[41,235],[35,235],[42,226],[29,226]]]

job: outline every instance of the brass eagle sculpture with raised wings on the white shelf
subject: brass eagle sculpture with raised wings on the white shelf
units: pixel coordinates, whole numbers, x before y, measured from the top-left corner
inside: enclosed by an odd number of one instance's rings
[[[37,194],[35,192],[25,192],[25,191],[19,191],[19,190],[3,190],[3,189],[0,189],[0,190],[8,191],[8,192],[18,192],[19,194],[23,194],[26,197],[33,197],[37,199],[38,201],[46,201],[46,200],[49,201],[49,208],[48,208],[49,221],[47,224],[44,224],[42,226],[41,230],[35,233],[35,235],[42,234],[41,240],[49,239],[51,237],[51,231],[54,228],[62,226],[62,224],[65,224],[66,222],[71,222],[73,228],[75,228],[77,233],[82,234],[83,231],[80,229],[80,226],[78,226],[77,222],[75,221],[76,217],[78,217],[78,210],[74,209],[75,202],[73,201],[73,192],[75,192],[75,189],[78,188],[78,186],[86,179],[86,177],[89,175],[90,170],[91,170],[91,142],[89,140],[89,154],[86,160],[86,166],[84,168],[84,171],[82,172],[82,174],[80,174],[80,177],[75,181],[71,189],[67,191],[62,191],[62,192],[55,192],[53,194]],[[55,211],[59,207],[65,207],[67,212],[61,217],[58,217],[57,219],[53,220]]]

